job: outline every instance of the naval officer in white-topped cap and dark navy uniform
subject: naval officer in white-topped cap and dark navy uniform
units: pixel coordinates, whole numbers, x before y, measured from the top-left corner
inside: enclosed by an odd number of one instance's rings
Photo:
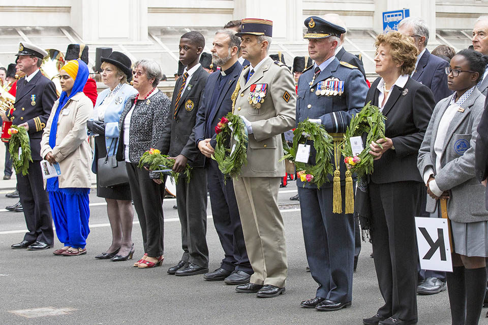
[[[43,76],[39,67],[47,52],[34,44],[20,43],[18,66],[25,78],[17,82],[14,108],[2,113],[2,119],[23,126],[31,141],[32,162],[28,174],[17,174],[20,203],[24,208],[28,232],[12,248],[42,250],[53,244],[49,198],[44,190],[41,164],[41,137],[52,105],[57,99],[54,83]]]

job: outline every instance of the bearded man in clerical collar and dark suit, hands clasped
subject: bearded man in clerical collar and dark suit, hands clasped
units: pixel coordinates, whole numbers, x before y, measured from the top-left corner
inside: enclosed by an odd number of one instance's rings
[[[254,271],[246,251],[232,179],[227,178],[224,182],[219,165],[210,158],[216,146],[215,127],[232,110],[231,96],[242,71],[242,66],[237,61],[240,38],[235,34],[232,29],[221,29],[215,34],[211,52],[214,64],[221,69],[208,77],[192,137],[196,146],[207,157],[205,170],[212,216],[224,249],[224,259],[219,268],[203,277],[207,281],[224,280],[227,284],[237,285],[249,282]]]

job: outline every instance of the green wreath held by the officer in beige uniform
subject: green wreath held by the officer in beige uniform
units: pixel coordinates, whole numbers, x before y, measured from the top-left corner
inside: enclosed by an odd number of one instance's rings
[[[212,159],[217,161],[219,170],[225,177],[235,177],[240,174],[242,166],[248,164],[248,134],[246,124],[238,115],[229,112],[226,118],[228,123],[221,124],[222,128],[217,134],[217,144]],[[232,147],[230,147],[231,143],[233,143]]]

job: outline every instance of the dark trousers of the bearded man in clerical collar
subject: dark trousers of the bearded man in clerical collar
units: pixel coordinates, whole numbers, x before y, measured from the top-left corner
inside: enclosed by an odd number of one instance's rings
[[[224,249],[221,268],[227,271],[240,270],[253,274],[242,234],[239,209],[235,200],[234,185],[231,178],[224,183],[224,174],[213,159],[207,159],[208,190],[215,229]]]

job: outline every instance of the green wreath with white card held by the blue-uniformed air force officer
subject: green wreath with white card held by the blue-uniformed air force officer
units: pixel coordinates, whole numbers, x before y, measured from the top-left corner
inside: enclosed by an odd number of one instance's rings
[[[303,134],[310,135],[310,137],[304,136]],[[304,144],[307,140],[314,142],[314,148],[317,151],[315,165],[295,161],[298,144]],[[320,188],[324,183],[329,182],[327,176],[333,174],[334,169],[332,164],[330,164],[333,149],[332,137],[325,131],[322,125],[310,122],[307,119],[298,123],[295,131],[293,131],[293,146],[291,148],[285,141],[283,142],[285,155],[280,160],[291,160],[295,164],[297,172],[304,171],[306,174],[313,175],[312,182]],[[305,182],[303,182],[304,185]]]

